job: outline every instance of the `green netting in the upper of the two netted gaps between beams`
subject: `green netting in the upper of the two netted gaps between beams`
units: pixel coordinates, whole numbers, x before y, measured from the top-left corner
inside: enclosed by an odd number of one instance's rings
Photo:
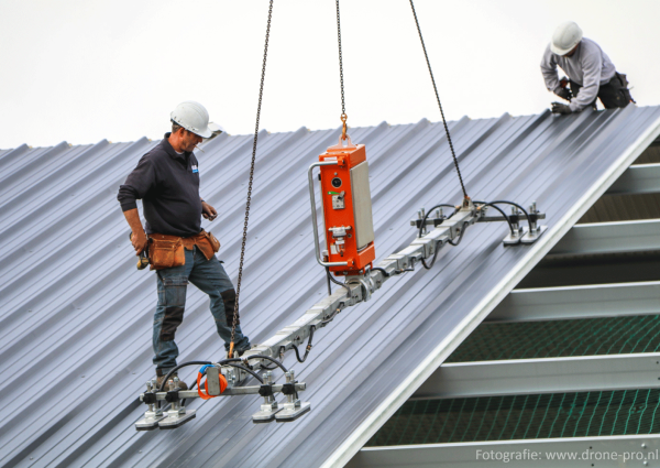
[[[660,315],[482,324],[446,362],[660,351]]]

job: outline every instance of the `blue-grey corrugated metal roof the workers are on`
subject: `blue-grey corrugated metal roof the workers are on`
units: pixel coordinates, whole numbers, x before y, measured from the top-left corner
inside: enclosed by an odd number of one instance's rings
[[[430,272],[391,280],[371,302],[340,314],[315,336],[307,362],[293,366],[292,356],[285,361],[307,382],[302,396],[312,403],[296,423],[253,425],[258,400],[231,398],[195,402],[197,420],[152,433],[135,432],[133,423],[145,410],[136,395],[153,374],[155,281],[135,270],[116,194],[156,143],[0,151],[0,464],[317,467],[345,460],[354,449],[350,442],[359,448],[396,410],[385,407],[392,395],[405,401],[400,384],[407,376],[442,346],[451,352],[458,341],[449,337],[464,336],[483,319],[485,297],[501,298],[515,285],[613,182],[612,174],[657,137],[659,119],[660,108],[629,106],[452,122],[470,195],[538,200],[548,213],[547,246],[505,249],[505,226],[479,225],[459,248],[446,248]],[[293,323],[324,294],[306,171],[337,135],[261,133],[241,302],[242,327],[253,342]],[[408,220],[419,207],[458,203],[460,188],[441,124],[382,123],[351,135],[366,144],[383,259],[414,238]],[[232,277],[251,140],[221,135],[198,154],[201,194],[220,213],[205,227],[221,238],[219,257]],[[506,287],[503,277],[510,280]],[[179,361],[223,355],[207,303],[189,289],[177,333]],[[382,422],[367,424],[376,411]]]

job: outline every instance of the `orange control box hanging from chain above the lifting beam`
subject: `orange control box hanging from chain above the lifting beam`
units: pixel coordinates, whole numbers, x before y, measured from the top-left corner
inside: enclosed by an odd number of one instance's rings
[[[349,140],[350,142],[350,140]],[[319,156],[326,248],[337,275],[364,272],[376,258],[369,163],[364,144],[338,144]]]

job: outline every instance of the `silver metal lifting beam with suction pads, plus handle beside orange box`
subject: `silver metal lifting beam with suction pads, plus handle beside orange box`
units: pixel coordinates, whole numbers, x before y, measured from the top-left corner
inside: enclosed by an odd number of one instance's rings
[[[310,195],[312,220],[315,221],[315,233],[318,232],[316,227],[316,202],[314,197],[314,182],[311,171],[318,164],[312,164],[309,168]],[[493,222],[508,221],[510,222],[510,232],[504,239],[505,246],[517,243],[532,243],[547,229],[546,226],[538,226],[538,219],[544,219],[546,215],[536,209],[536,203],[530,207],[530,226],[524,229],[518,225],[517,209],[509,217],[504,216],[486,216],[487,206],[474,205],[471,200],[464,202],[463,206],[458,208],[449,218],[442,216],[442,211],[437,211],[435,217],[425,216],[424,210],[419,213],[419,219],[410,221],[413,226],[424,233],[430,227],[433,227],[430,232],[417,237],[410,246],[400,252],[393,253],[378,263],[373,269],[365,269],[364,274],[348,275],[345,283],[334,293],[330,294],[322,301],[309,308],[305,315],[294,322],[292,325],[280,329],[273,337],[261,345],[254,346],[248,352],[250,356],[241,360],[241,366],[232,367],[228,364],[213,363],[207,368],[208,394],[210,396],[232,396],[258,394],[264,398],[264,403],[261,410],[253,415],[254,423],[268,423],[272,421],[290,422],[300,417],[310,411],[311,406],[308,402],[300,402],[298,391],[306,390],[307,385],[304,382],[295,380],[294,371],[285,371],[286,383],[274,384],[273,376],[268,367],[273,363],[267,358],[284,360],[286,351],[302,346],[315,330],[323,328],[332,319],[346,307],[353,306],[361,302],[366,302],[372,294],[380,290],[385,281],[394,275],[404,272],[415,271],[415,265],[422,260],[426,261],[436,257],[438,250],[447,243],[458,244],[468,227],[475,222]],[[422,227],[424,225],[424,227]],[[315,244],[317,247],[317,261],[322,266],[327,266],[327,262],[318,254],[318,235],[316,236]],[[309,349],[310,346],[308,346]],[[245,370],[244,370],[245,369]],[[252,372],[260,370],[268,370],[263,374],[262,385],[237,387],[243,382]],[[228,388],[221,391],[219,388],[219,374],[222,373],[228,382]],[[254,373],[252,373],[254,376]],[[177,384],[177,379],[169,380],[168,392],[155,391],[155,381],[147,382],[147,391],[140,396],[140,400],[148,404],[148,410],[144,418],[139,421],[135,426],[139,431],[150,431],[156,427],[176,428],[195,417],[195,410],[186,410],[180,404],[182,400],[199,398],[197,390],[174,390]],[[275,401],[275,393],[283,393],[287,401],[282,406]],[[170,407],[158,409],[157,402],[167,401]]]

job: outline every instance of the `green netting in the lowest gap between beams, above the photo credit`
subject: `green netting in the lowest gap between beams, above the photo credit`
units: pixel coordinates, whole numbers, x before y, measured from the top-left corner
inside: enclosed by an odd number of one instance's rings
[[[660,390],[408,401],[366,446],[660,432]]]

